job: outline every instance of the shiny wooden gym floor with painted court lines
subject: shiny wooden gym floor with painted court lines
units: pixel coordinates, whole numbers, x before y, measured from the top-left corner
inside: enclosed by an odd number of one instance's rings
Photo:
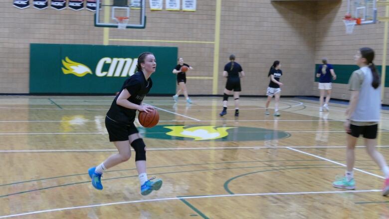
[[[357,189],[333,188],[345,171],[345,104],[318,111],[315,100],[281,97],[281,116],[264,98],[147,97],[160,123],[140,128],[148,176],[163,180],[143,197],[134,157],[104,173],[95,190],[88,168],[116,149],[104,118],[112,96],[0,97],[0,218],[271,219],[388,218],[379,167],[356,149]],[[273,102],[271,107],[273,106]],[[271,113],[273,113],[271,111]],[[389,158],[389,112],[379,150]],[[134,155],[133,155],[134,156]]]

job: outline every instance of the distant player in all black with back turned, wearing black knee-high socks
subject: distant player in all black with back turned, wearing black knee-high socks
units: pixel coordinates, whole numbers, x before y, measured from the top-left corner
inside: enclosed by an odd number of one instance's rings
[[[228,95],[231,95],[232,90],[234,91],[234,100],[235,100],[235,116],[239,116],[239,92],[240,88],[240,78],[244,77],[244,71],[239,63],[235,62],[235,55],[231,54],[229,56],[230,62],[224,66],[223,77],[227,78],[227,83],[224,88],[223,95],[223,111],[219,113],[220,116],[227,114],[227,101]]]

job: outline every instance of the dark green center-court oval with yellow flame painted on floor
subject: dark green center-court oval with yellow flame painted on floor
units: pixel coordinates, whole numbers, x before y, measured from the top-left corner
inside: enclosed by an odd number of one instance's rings
[[[283,139],[289,133],[277,130],[234,126],[155,126],[139,128],[147,138],[185,141],[261,141]]]

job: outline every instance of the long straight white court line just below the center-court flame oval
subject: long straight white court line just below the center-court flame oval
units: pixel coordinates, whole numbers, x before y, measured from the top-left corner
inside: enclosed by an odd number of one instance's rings
[[[376,146],[379,148],[388,148],[389,145]],[[225,149],[290,149],[290,148],[306,148],[306,149],[320,149],[320,148],[346,148],[346,146],[252,146],[252,147],[214,147],[214,148],[148,148],[147,151],[185,151],[185,150],[225,150]],[[365,146],[356,146],[356,148],[365,148]],[[117,149],[47,149],[47,150],[0,150],[0,153],[26,153],[26,152],[116,152]]]

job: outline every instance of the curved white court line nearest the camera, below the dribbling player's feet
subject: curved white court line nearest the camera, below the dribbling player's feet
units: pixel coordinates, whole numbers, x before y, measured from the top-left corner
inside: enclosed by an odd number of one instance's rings
[[[48,212],[58,212],[64,210],[74,210],[74,209],[85,209],[85,208],[94,208],[94,207],[104,207],[104,206],[113,206],[113,205],[123,205],[123,204],[133,204],[133,203],[147,203],[147,202],[160,202],[160,201],[170,201],[170,200],[180,200],[180,199],[204,199],[204,198],[223,198],[223,197],[246,197],[246,196],[284,196],[284,195],[311,195],[311,194],[337,194],[337,193],[365,193],[365,192],[381,192],[381,190],[355,190],[355,191],[324,191],[324,192],[294,192],[294,193],[253,193],[253,194],[228,194],[228,195],[209,195],[209,196],[188,196],[188,197],[172,197],[172,198],[162,198],[162,199],[148,199],[148,200],[135,200],[135,201],[126,201],[126,202],[114,202],[114,203],[105,203],[97,205],[88,205],[88,206],[75,206],[68,208],[60,209],[49,209],[35,212],[27,212],[15,215],[6,215],[0,216],[0,218],[12,218],[17,216],[25,215],[34,215]]]

